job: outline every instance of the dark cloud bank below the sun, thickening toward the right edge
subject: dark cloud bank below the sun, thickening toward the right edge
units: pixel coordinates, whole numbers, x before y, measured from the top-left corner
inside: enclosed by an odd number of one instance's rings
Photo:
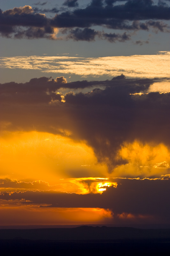
[[[158,221],[170,222],[169,179],[113,179],[113,181],[118,183],[117,187],[109,187],[103,194],[78,195],[58,191],[26,191],[1,193],[0,198],[4,200],[24,198],[32,204],[51,204],[51,207],[105,208],[112,210],[114,218],[122,213],[124,217],[130,213],[143,218],[151,216],[157,223]]]

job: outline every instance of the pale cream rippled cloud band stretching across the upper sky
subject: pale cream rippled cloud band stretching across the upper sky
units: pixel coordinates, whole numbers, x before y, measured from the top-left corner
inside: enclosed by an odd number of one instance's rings
[[[122,40],[121,37],[118,37],[117,39]],[[1,57],[0,67],[10,69],[36,69],[43,73],[75,74],[81,77],[113,77],[123,73],[123,75],[127,77],[163,78],[169,77],[170,74],[169,55],[170,52],[165,51],[158,52],[155,55],[99,58],[69,56]],[[156,84],[158,84],[158,82],[155,83],[154,86]],[[159,88],[162,90],[160,92],[170,91],[170,86],[168,86],[168,84],[169,80],[166,79],[164,80],[163,86],[159,83]],[[152,90],[154,89],[152,88]]]

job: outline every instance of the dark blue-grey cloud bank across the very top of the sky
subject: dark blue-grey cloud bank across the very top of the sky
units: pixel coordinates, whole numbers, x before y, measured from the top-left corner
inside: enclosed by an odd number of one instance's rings
[[[0,12],[0,33],[5,37],[14,38],[48,38],[58,39],[52,36],[55,29],[66,28],[63,33],[69,31],[66,37],[60,39],[73,39],[93,41],[95,37],[106,39],[109,42],[125,42],[130,35],[125,32],[116,33],[101,32],[103,29],[121,30],[145,30],[153,29],[154,32],[168,32],[169,26],[162,20],[169,20],[169,6],[166,4],[154,4],[153,1],[127,0],[123,4],[113,4],[117,1],[94,1],[85,8],[78,8],[77,0],[66,0],[63,5],[77,7],[69,11],[63,9],[34,9],[26,5],[15,7]],[[163,3],[163,2],[162,2]],[[46,2],[37,5],[45,5]],[[41,12],[53,12],[55,17],[47,18]],[[100,26],[101,31],[95,31],[92,27]],[[74,29],[73,29],[74,28]],[[83,29],[82,29],[83,28]],[[57,30],[58,31],[58,30]],[[55,31],[56,32],[56,31]]]

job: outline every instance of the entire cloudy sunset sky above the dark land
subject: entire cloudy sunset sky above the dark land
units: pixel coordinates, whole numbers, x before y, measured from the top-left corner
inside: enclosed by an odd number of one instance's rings
[[[170,1],[0,8],[0,226],[170,224]]]

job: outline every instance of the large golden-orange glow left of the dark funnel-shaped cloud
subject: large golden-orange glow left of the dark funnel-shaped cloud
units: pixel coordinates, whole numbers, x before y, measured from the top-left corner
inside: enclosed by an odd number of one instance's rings
[[[0,147],[1,177],[45,180],[55,185],[70,175],[107,173],[106,166],[97,164],[92,148],[68,136],[46,132],[3,132]]]

